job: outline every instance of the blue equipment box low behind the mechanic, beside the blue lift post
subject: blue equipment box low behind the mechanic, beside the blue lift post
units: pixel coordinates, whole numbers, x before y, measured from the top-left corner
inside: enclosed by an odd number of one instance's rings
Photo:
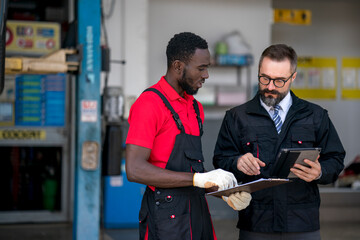
[[[139,227],[139,210],[145,187],[127,180],[124,163],[121,175],[104,176],[104,227]]]

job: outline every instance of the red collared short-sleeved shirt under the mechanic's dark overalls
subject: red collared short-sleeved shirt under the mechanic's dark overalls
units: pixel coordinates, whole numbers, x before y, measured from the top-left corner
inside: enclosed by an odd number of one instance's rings
[[[164,77],[152,86],[168,99],[179,115],[187,134],[199,136],[199,124],[193,107],[194,97],[184,93],[182,98]],[[198,102],[200,117],[204,122],[204,111]],[[180,130],[175,124],[170,110],[154,92],[145,92],[131,106],[128,122],[130,124],[126,144],[134,144],[151,149],[149,162],[165,168],[173,150],[175,137]]]

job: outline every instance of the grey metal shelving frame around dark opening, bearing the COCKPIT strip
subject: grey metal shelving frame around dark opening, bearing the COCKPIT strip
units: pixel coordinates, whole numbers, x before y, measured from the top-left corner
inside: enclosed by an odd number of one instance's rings
[[[74,165],[71,155],[74,152],[71,142],[74,137],[74,119],[72,107],[74,85],[66,77],[65,94],[65,124],[64,126],[1,126],[0,127],[0,150],[17,147],[20,149],[46,149],[60,152],[60,196],[59,208],[46,209],[13,209],[0,211],[0,223],[26,223],[26,222],[64,222],[71,219],[70,202],[73,196],[71,182],[73,179],[72,166]],[[0,152],[1,152],[0,151]],[[3,156],[4,157],[4,156]],[[3,161],[5,159],[2,159]],[[9,159],[7,159],[9,160]],[[50,161],[53,159],[43,159]]]

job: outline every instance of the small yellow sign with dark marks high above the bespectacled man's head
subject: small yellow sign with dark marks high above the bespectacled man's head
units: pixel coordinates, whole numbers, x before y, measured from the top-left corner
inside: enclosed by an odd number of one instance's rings
[[[274,9],[274,23],[311,24],[311,11],[305,9]]]

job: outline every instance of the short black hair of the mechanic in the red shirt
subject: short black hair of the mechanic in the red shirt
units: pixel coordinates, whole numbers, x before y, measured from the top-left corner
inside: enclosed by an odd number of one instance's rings
[[[175,34],[166,48],[168,68],[175,60],[188,63],[196,49],[208,49],[206,40],[191,32]]]

